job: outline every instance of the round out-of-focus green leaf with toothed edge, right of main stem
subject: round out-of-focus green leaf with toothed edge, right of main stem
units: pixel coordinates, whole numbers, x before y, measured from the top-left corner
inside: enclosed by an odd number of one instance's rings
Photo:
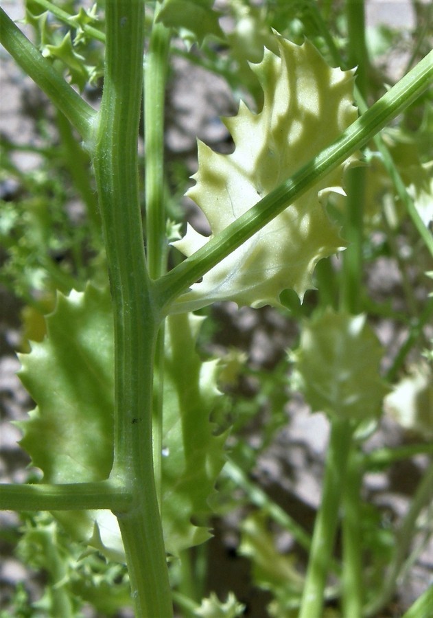
[[[313,411],[354,421],[378,416],[389,390],[379,376],[382,352],[365,315],[327,310],[305,321],[293,359]]]

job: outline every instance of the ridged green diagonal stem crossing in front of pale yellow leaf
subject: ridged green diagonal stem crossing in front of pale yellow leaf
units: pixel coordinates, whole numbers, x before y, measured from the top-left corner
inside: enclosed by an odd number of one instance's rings
[[[168,312],[169,304],[178,295],[307,192],[314,183],[365,146],[376,133],[416,100],[433,80],[432,60],[433,52],[430,52],[410,73],[355,120],[331,146],[325,148],[224,231],[211,238],[202,249],[161,277],[156,283],[161,309]]]

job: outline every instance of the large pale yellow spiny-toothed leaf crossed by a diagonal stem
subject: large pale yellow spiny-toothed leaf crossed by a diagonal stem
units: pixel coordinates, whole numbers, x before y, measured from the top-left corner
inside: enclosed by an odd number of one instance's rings
[[[235,151],[220,155],[198,142],[199,167],[193,176],[197,183],[188,195],[207,216],[212,236],[329,146],[357,117],[353,71],[331,69],[307,41],[298,46],[274,36],[281,57],[265,49],[262,62],[250,65],[264,91],[261,112],[252,113],[241,102],[237,116],[223,119]],[[329,193],[344,193],[341,182],[347,164],[212,268],[172,310],[194,310],[218,300],[253,307],[279,305],[286,288],[302,298],[312,287],[318,260],[344,245],[325,203]],[[185,237],[173,244],[189,256],[208,240],[189,226]]]

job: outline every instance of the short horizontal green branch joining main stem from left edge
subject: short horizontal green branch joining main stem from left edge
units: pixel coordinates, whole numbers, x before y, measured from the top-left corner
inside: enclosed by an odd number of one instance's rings
[[[112,481],[48,485],[0,484],[0,510],[66,511],[80,509],[127,510],[132,500],[128,490]]]

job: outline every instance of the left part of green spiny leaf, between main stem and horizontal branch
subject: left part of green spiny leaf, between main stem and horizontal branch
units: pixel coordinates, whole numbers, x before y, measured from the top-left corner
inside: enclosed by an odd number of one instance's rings
[[[45,483],[108,478],[113,464],[113,319],[110,295],[58,295],[47,338],[21,355],[21,382],[38,407],[21,445]]]

